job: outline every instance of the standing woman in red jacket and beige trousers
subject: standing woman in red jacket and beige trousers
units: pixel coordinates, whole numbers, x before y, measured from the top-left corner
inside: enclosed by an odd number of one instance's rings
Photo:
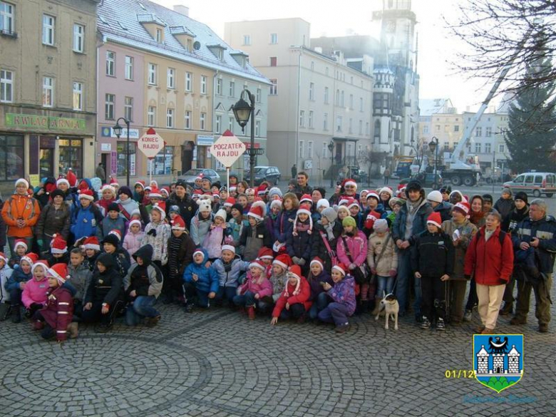
[[[473,274],[477,283],[479,315],[483,325],[477,331],[493,334],[506,284],[513,271],[510,235],[500,230],[502,217],[493,210],[486,223],[471,240],[465,254],[464,273]]]

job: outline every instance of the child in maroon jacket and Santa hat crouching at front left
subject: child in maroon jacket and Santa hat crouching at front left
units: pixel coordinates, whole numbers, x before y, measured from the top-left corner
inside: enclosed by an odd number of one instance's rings
[[[78,326],[73,319],[73,295],[71,285],[64,285],[68,278],[66,264],[53,265],[48,275],[48,302],[44,309],[34,314],[34,328],[41,331],[43,339],[56,337],[58,343],[76,339]]]

